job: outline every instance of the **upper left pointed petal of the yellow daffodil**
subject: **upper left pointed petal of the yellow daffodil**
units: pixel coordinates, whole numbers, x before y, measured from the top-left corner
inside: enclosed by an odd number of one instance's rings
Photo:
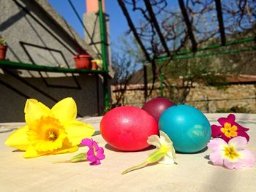
[[[36,99],[28,99],[26,101],[24,112],[28,125],[33,124],[34,120],[40,119],[42,116],[52,116],[50,109]]]

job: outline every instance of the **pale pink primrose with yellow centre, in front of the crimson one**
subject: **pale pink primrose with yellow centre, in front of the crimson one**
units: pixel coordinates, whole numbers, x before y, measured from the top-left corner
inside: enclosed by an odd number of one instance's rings
[[[214,165],[226,166],[228,169],[251,167],[255,164],[255,155],[245,149],[246,144],[246,138],[241,136],[230,139],[228,144],[220,138],[212,139],[207,145],[213,150],[210,160]]]

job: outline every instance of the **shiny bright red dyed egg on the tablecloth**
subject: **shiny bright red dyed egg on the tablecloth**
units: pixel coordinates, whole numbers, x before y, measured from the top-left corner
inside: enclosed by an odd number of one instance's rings
[[[116,107],[100,122],[102,137],[118,150],[135,151],[149,146],[147,139],[158,134],[156,120],[138,107]]]

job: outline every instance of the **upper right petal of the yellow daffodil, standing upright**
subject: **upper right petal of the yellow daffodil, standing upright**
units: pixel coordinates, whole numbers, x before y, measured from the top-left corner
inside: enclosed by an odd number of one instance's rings
[[[62,124],[75,120],[77,116],[77,106],[74,99],[67,97],[62,99],[51,109],[55,118],[59,119]]]

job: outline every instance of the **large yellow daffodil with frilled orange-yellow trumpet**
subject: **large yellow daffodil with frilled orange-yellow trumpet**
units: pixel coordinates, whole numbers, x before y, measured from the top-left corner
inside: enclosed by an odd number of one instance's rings
[[[82,139],[94,134],[91,125],[76,120],[77,107],[70,97],[52,109],[36,99],[28,99],[24,112],[26,126],[10,134],[5,142],[9,147],[26,150],[24,158],[74,152]]]

